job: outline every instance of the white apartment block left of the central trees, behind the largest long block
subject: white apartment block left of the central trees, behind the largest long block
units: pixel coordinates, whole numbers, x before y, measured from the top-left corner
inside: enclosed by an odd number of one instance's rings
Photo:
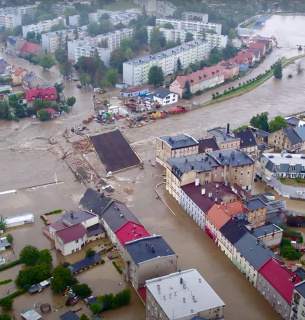
[[[123,39],[131,38],[132,32],[132,28],[124,28],[121,30],[100,34],[95,37],[86,37],[83,39],[68,41],[68,58],[69,60],[77,61],[77,59],[80,57],[79,52],[82,51],[81,48],[85,46],[98,48],[98,45],[102,41],[107,42],[107,50],[109,50],[109,52],[111,53],[113,50],[119,48]]]

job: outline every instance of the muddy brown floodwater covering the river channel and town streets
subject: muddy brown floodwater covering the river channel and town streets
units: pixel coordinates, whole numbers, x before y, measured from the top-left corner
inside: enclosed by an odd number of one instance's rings
[[[295,36],[291,34],[292,27],[295,30]],[[303,17],[273,17],[267,20],[258,32],[262,35],[275,34],[277,36],[273,31],[278,31],[282,48],[274,49],[263,64],[253,70],[248,77],[263,72],[279,57],[290,57],[300,53],[295,48],[297,44],[300,44],[300,35],[302,39],[305,39],[305,19]],[[285,41],[288,40],[289,44],[286,45]],[[55,68],[52,68],[51,71],[43,71],[40,67],[29,65],[26,61],[13,57],[5,58],[13,64],[34,70],[49,83],[62,81]],[[304,63],[304,59],[300,61]],[[132,169],[108,179],[108,183],[115,188],[113,196],[125,201],[151,234],[161,234],[165,238],[178,254],[179,269],[198,269],[225,302],[225,316],[228,320],[242,318],[276,320],[280,319],[280,316],[179,207],[178,203],[165,192],[164,185],[160,186],[159,192],[174,214],[156,198],[154,189],[157,183],[163,181],[164,170],[152,165],[155,163],[154,140],[156,136],[181,132],[200,138],[205,135],[208,128],[223,126],[227,122],[230,122],[231,127],[234,128],[248,123],[253,115],[263,111],[268,111],[270,117],[302,112],[305,109],[303,103],[305,77],[303,74],[297,74],[296,64],[285,68],[283,74],[282,80],[271,78],[259,88],[241,97],[184,115],[147,123],[142,128],[125,128],[122,120],[108,126],[101,126],[97,123],[88,125],[90,134],[111,130],[115,126],[122,129],[132,147],[144,160],[144,170]],[[288,79],[288,74],[292,74],[293,77]],[[244,81],[246,78],[241,80]],[[234,85],[238,86],[241,80]],[[63,138],[62,134],[65,128],[70,130],[74,125],[81,124],[82,120],[92,113],[92,93],[77,89],[73,82],[65,82],[64,93],[66,97],[75,96],[77,99],[71,115],[47,123],[40,123],[36,119],[23,119],[19,123],[0,122],[0,192],[17,190],[16,193],[0,195],[0,213],[10,216],[33,212],[35,215],[34,224],[8,230],[14,237],[14,252],[9,250],[3,252],[2,255],[7,261],[16,259],[25,244],[35,245],[39,249],[49,248],[55,265],[83,258],[83,252],[68,257],[63,257],[56,252],[53,244],[42,234],[43,223],[39,218],[41,214],[58,208],[77,210],[78,202],[86,190],[84,185],[75,181],[74,175],[61,159],[63,154],[71,148],[71,143]],[[117,104],[118,100],[112,98],[116,94],[118,91],[113,91],[104,97],[110,98],[113,104]],[[211,92],[208,92],[196,97],[196,101],[203,102],[210,98]],[[70,140],[75,138],[77,137]],[[88,159],[98,163],[94,154],[88,155]],[[96,168],[98,173],[104,177],[103,167],[98,164]],[[60,183],[51,184],[54,183],[55,174]],[[261,182],[257,182],[254,184],[253,192],[264,191],[264,188]],[[124,189],[128,192],[125,192]],[[277,195],[276,197],[279,198]],[[297,211],[304,210],[303,202],[300,201],[287,200],[287,206]],[[54,215],[50,219],[55,221],[58,217],[59,215]],[[14,279],[20,268],[21,266],[15,266],[1,272],[0,280]],[[130,288],[110,261],[78,275],[78,279],[80,282],[88,283],[95,294],[118,292],[125,287]],[[0,286],[0,297],[16,289],[13,282]],[[131,292],[131,304],[120,310],[106,312],[106,319],[144,319],[144,306],[135,291],[131,290]],[[64,307],[64,297],[52,295],[50,289],[46,289],[36,295],[31,296],[26,293],[15,298],[13,313],[16,318],[20,319],[22,310],[34,304],[46,302],[52,305],[52,313],[44,316],[45,319],[58,319],[58,315],[67,310]],[[77,304],[72,309],[79,308],[82,310],[78,312],[78,315],[83,312],[90,315],[83,304]]]

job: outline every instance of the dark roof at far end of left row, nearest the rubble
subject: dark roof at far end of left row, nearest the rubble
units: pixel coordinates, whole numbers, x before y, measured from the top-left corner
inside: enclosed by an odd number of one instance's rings
[[[102,193],[96,190],[89,188],[86,190],[79,204],[82,206],[83,209],[101,215],[111,201],[111,198],[103,195]]]

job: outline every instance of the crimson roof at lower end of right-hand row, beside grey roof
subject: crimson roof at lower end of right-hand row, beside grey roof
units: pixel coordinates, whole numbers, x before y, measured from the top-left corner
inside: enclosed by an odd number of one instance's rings
[[[269,259],[258,272],[274,287],[288,304],[291,304],[293,287],[302,281],[298,275],[290,271],[287,267],[282,267],[280,261],[272,258]],[[295,277],[295,279],[291,281],[293,277]]]

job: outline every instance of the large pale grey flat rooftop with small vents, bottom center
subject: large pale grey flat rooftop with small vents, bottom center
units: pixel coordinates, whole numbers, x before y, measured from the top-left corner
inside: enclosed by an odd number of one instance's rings
[[[169,319],[173,314],[175,319],[186,319],[225,305],[196,269],[147,280],[146,288]]]

